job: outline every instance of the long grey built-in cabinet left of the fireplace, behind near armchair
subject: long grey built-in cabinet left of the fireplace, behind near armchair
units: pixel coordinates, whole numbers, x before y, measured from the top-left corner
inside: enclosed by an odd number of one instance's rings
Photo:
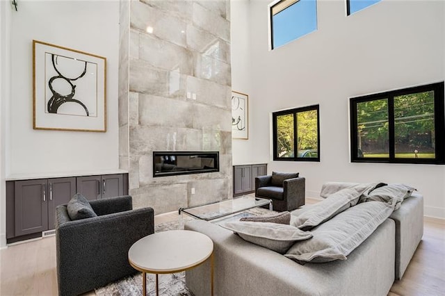
[[[128,174],[6,181],[7,242],[54,229],[56,206],[67,204],[76,192],[90,200],[127,195]]]

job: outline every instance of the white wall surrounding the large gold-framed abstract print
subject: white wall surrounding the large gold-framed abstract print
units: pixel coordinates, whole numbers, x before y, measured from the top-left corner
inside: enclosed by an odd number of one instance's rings
[[[118,1],[19,1],[11,24],[8,176],[118,169],[118,26]],[[33,130],[33,40],[106,57],[106,133]]]

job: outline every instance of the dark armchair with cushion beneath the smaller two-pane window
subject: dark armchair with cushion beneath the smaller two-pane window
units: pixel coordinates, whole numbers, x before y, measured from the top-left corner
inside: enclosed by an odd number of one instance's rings
[[[272,199],[275,211],[293,211],[305,204],[305,181],[298,173],[272,172],[255,178],[255,197]]]

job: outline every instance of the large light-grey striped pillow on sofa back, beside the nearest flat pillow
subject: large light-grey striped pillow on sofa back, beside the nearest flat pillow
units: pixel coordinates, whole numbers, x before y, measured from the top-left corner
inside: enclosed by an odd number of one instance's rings
[[[357,204],[312,229],[310,240],[296,242],[284,256],[298,263],[346,260],[391,213],[382,202]]]

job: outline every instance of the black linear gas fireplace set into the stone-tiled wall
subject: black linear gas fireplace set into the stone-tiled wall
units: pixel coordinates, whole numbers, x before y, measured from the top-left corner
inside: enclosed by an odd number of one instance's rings
[[[153,176],[219,172],[218,151],[154,151]]]

